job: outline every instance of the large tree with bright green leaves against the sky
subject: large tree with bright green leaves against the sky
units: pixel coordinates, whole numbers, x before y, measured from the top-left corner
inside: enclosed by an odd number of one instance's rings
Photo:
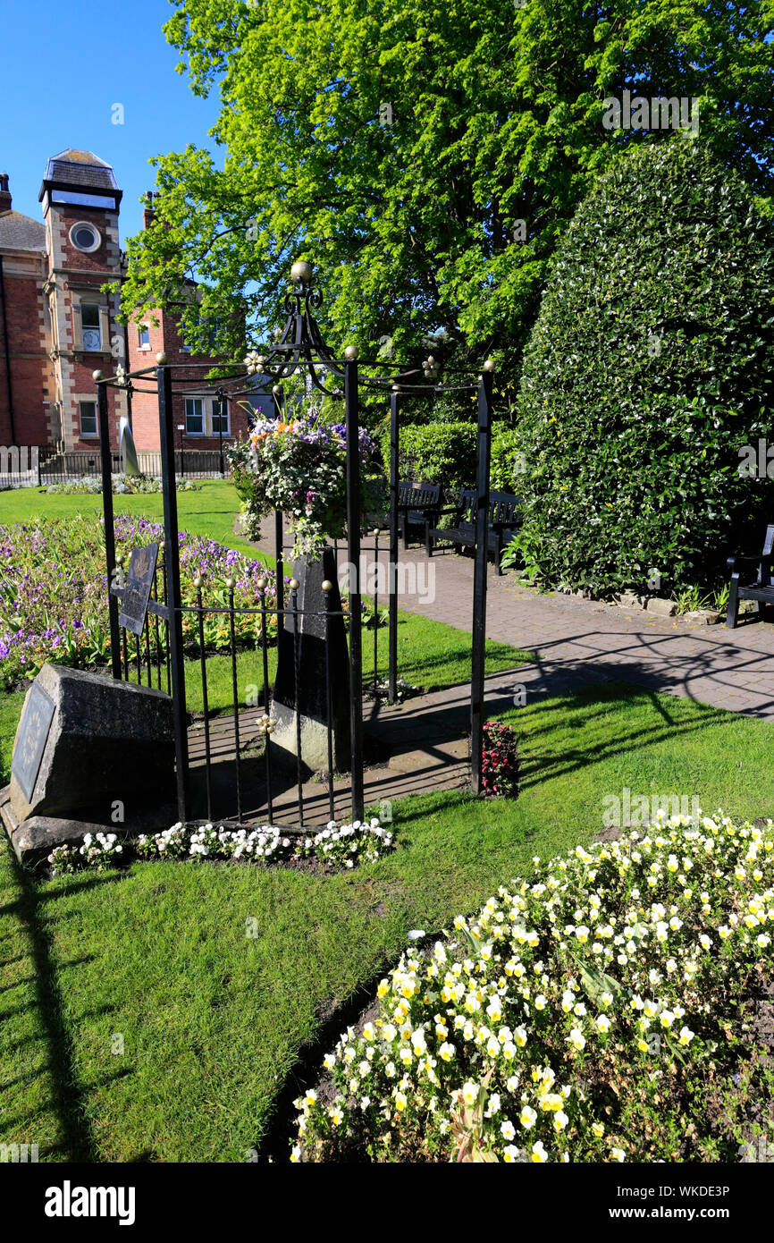
[[[496,352],[513,380],[559,237],[621,148],[631,89],[699,101],[699,140],[770,201],[774,0],[175,0],[165,26],[194,92],[220,88],[205,150],[159,157],[158,224],[129,241],[125,305],[180,297],[237,348],[282,318],[311,259],[334,344],[447,360]],[[195,334],[196,308],[189,317]]]

